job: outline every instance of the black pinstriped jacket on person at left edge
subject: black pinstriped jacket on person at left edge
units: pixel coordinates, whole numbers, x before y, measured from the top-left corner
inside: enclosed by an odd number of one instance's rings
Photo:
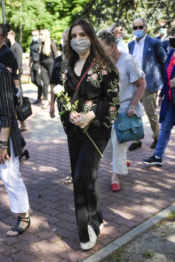
[[[2,127],[10,127],[8,138],[8,155],[11,156],[10,137],[14,156],[22,154],[21,135],[14,111],[13,103],[14,81],[6,66],[0,63],[0,132]]]

